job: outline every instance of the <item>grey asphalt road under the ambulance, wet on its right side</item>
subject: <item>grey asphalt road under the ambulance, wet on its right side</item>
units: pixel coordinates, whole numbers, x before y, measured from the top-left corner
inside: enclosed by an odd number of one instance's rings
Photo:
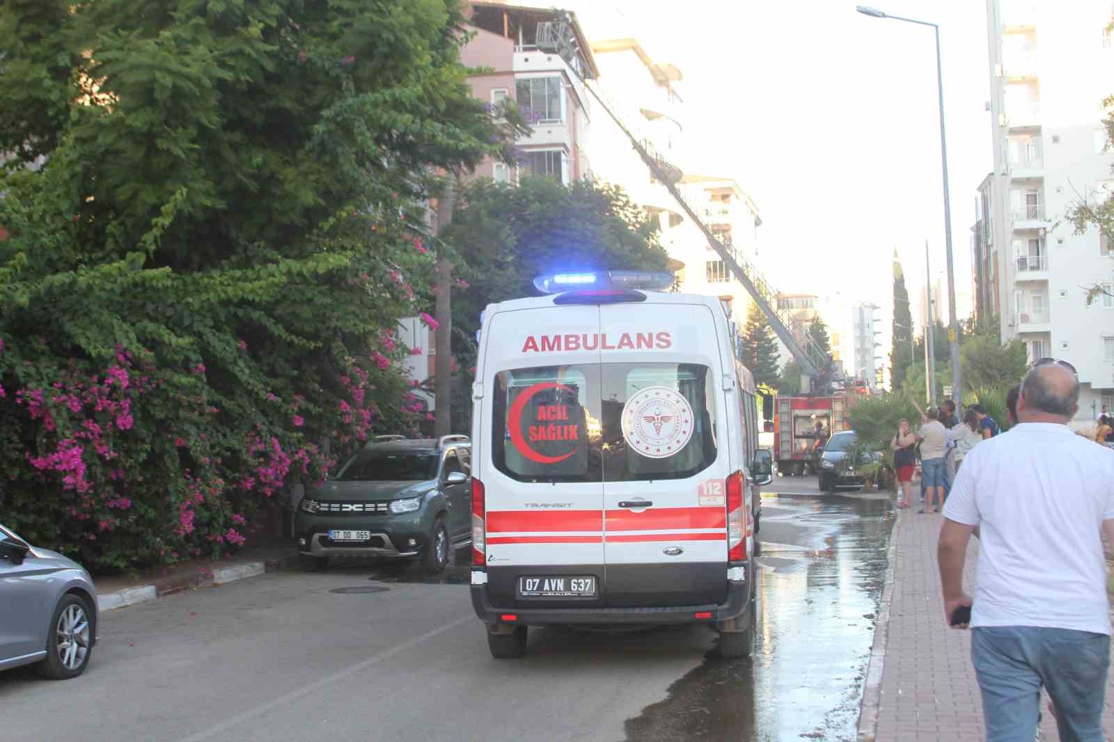
[[[0,673],[0,735],[853,740],[890,506],[808,481],[763,499],[751,660],[719,660],[713,632],[684,626],[531,629],[526,658],[496,661],[467,568],[430,580],[352,563],[106,613],[81,677]]]

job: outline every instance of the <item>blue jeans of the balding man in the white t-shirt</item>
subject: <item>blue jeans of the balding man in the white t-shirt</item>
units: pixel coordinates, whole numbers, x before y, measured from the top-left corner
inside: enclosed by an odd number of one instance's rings
[[[1063,742],[1102,742],[1110,636],[1037,626],[981,626],[971,634],[987,742],[1036,736],[1042,684],[1056,704]]]

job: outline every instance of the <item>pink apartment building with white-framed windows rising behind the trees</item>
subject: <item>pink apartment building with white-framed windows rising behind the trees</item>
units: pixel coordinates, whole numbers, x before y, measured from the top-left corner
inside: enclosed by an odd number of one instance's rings
[[[592,105],[584,78],[599,72],[576,16],[563,10],[472,0],[476,37],[461,52],[477,98],[515,99],[529,109],[534,131],[521,139],[517,167],[486,163],[477,175],[516,183],[519,175],[550,175],[569,183],[588,177]],[[600,111],[603,114],[603,111]]]

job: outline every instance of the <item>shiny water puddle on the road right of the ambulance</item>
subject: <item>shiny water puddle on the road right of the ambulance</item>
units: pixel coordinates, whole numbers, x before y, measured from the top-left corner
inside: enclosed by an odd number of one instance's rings
[[[627,740],[853,741],[893,520],[885,500],[797,500],[820,549],[760,557],[754,654],[704,662],[626,722]],[[763,523],[764,529],[765,523]],[[782,539],[778,539],[782,541]],[[784,541],[782,541],[784,543]],[[789,564],[786,564],[789,563]]]

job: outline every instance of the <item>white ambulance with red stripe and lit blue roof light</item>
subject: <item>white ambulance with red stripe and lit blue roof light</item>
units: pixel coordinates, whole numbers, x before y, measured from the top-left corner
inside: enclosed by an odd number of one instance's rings
[[[713,296],[668,273],[541,276],[483,313],[472,605],[498,658],[528,626],[698,623],[753,645],[754,382]]]

